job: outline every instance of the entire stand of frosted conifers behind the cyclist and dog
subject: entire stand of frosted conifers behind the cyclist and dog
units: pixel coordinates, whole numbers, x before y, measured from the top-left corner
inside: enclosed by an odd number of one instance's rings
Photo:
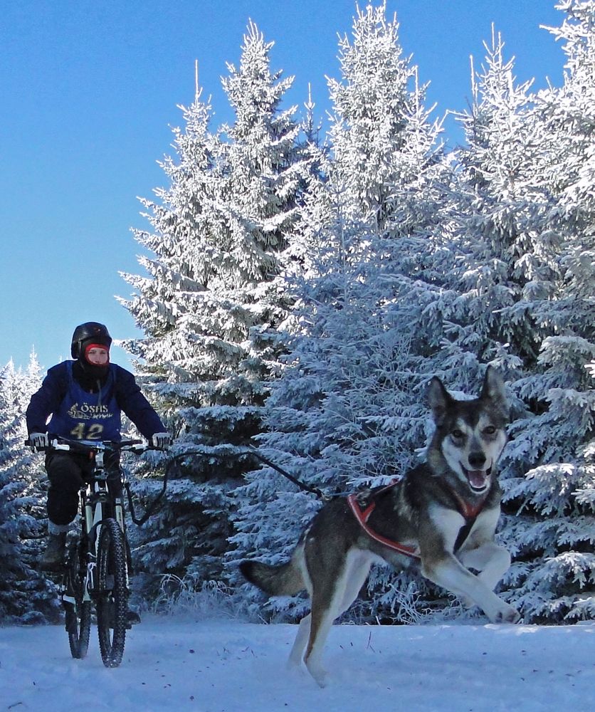
[[[476,394],[491,365],[512,404],[501,595],[525,622],[594,618],[595,0],[557,7],[561,85],[517,83],[496,28],[458,147],[381,2],[339,39],[325,132],[313,99],[287,105],[293,78],[252,22],[222,68],[233,122],[214,125],[198,88],[180,108],[164,187],[134,231],[138,273],[122,273],[143,335],[125,346],[174,436],[169,454],[128,465],[139,511],[177,456],[162,506],[128,528],[137,601],[211,587],[255,619],[297,619],[305,597],[265,600],[238,564],[285,560],[321,501],[253,449],[325,493],[388,483],[423,458],[431,377]],[[43,457],[24,445],[41,379],[35,354],[0,368],[2,622],[60,614],[36,566]],[[384,567],[354,607],[362,621],[461,615]]]

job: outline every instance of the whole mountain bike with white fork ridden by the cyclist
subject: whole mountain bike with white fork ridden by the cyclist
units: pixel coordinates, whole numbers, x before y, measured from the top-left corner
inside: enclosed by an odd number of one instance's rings
[[[120,486],[108,486],[110,459],[129,451],[157,449],[140,440],[89,441],[53,439],[46,451],[70,451],[93,459],[93,474],[80,489],[80,527],[70,541],[59,586],[65,627],[73,658],[88,651],[92,609],[95,607],[101,658],[106,667],[120,665],[130,629],[128,575],[130,546],[125,527],[125,471],[117,466]],[[113,490],[117,489],[117,493]]]

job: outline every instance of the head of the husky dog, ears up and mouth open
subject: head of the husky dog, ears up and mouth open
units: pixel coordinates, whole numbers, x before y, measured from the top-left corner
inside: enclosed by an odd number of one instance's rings
[[[508,405],[504,382],[488,368],[480,396],[459,401],[434,377],[428,399],[436,423],[430,456],[435,457],[438,449],[451,471],[471,492],[487,492],[507,440]]]

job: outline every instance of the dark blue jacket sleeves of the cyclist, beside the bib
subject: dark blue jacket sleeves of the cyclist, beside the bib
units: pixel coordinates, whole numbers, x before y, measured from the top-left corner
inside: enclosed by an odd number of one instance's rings
[[[75,362],[70,362],[73,364]],[[110,364],[110,372],[114,377],[115,402],[117,408],[137,426],[142,435],[149,439],[155,433],[166,432],[164,424],[154,411],[151,404],[141,393],[136,379],[130,371],[116,364]],[[48,370],[41,388],[33,394],[26,412],[27,431],[29,433],[45,433],[46,423],[51,414],[60,409],[60,404],[67,397],[70,387],[72,369],[64,361]],[[68,436],[65,433],[56,433]]]

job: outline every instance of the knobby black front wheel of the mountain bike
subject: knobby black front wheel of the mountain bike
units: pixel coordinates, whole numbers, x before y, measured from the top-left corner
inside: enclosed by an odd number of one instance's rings
[[[98,547],[97,627],[106,667],[122,662],[126,641],[128,588],[126,543],[115,519],[101,525]]]

